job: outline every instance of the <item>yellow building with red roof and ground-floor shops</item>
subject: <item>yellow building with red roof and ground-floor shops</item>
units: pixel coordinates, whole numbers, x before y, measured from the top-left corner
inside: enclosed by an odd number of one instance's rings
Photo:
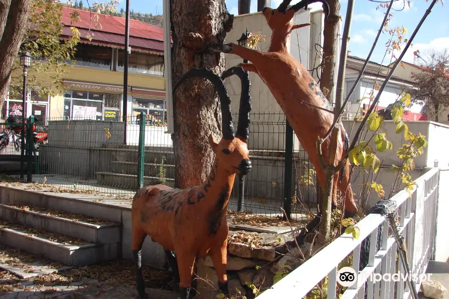
[[[74,66],[67,67],[61,86],[53,87],[57,90],[55,96],[39,98],[35,91],[29,91],[24,107],[26,115],[37,115],[41,121],[48,118],[121,121],[125,101],[128,120],[136,122],[138,115],[145,112],[148,118],[164,123],[163,29],[130,20],[128,98],[123,99],[125,18],[99,14],[96,22],[95,14],[89,10],[65,6],[62,9],[64,26],[60,39],[73,35],[71,26],[80,32]],[[74,12],[79,19],[71,24]],[[21,115],[21,102],[7,98],[2,114],[18,107],[16,111]]]

